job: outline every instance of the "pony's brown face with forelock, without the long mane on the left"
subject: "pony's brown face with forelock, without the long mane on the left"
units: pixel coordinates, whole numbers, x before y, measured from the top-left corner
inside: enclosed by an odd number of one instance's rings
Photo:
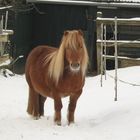
[[[65,59],[71,72],[85,74],[88,55],[81,30],[65,31],[63,36]]]

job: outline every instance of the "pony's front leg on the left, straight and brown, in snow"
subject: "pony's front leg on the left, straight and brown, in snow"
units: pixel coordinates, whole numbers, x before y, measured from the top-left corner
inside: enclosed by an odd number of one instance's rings
[[[54,98],[54,108],[55,108],[54,121],[57,125],[61,125],[62,101],[61,101],[60,97],[55,97]]]

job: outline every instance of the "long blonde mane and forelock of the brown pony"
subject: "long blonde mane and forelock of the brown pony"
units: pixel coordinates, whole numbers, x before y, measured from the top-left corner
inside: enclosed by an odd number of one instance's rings
[[[81,37],[78,37],[78,36],[79,35],[78,35],[77,30],[69,31],[68,35],[67,35],[67,32],[65,32],[59,49],[56,50],[55,52],[49,54],[45,58],[45,64],[50,62],[49,67],[48,67],[48,75],[54,79],[56,84],[58,84],[58,81],[64,72],[65,48],[67,46],[69,46],[72,49],[75,49],[75,46],[76,46],[75,44],[77,44],[77,41],[80,42],[80,45],[82,45],[83,49],[84,49],[84,56],[83,56],[83,60],[81,62],[81,72],[82,72],[83,78],[85,77],[86,69],[87,69],[87,65],[88,65],[88,53],[87,53],[87,49],[85,46],[83,36],[82,35],[80,35]]]

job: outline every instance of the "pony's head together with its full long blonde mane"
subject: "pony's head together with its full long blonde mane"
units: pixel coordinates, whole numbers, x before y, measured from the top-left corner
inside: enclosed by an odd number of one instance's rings
[[[54,52],[49,66],[49,75],[58,83],[66,68],[73,73],[81,72],[85,76],[88,65],[88,53],[81,30],[65,31],[60,48]]]

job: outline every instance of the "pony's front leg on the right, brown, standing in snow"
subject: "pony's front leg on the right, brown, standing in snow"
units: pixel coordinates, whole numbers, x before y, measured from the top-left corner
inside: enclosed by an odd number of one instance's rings
[[[70,125],[71,123],[74,123],[74,112],[77,104],[77,100],[79,96],[81,95],[82,91],[80,90],[79,92],[70,95],[70,102],[68,106],[68,124]]]

